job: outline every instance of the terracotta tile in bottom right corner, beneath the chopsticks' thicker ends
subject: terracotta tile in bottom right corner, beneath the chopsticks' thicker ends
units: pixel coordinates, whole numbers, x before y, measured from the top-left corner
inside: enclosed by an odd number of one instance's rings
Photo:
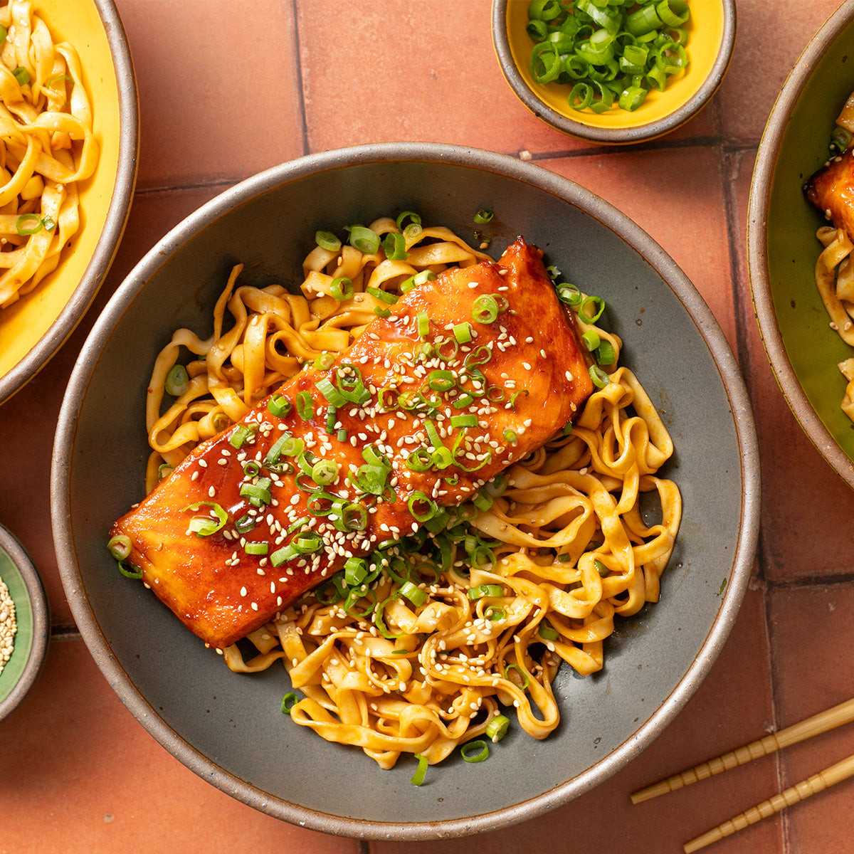
[[[782,726],[854,697],[851,669],[840,667],[854,645],[854,584],[780,588],[770,596],[769,632],[775,648],[775,693]],[[804,631],[809,627],[807,631]],[[854,754],[851,726],[793,746],[783,754],[781,787],[790,787]],[[848,816],[854,780],[787,810],[790,850],[843,854],[851,850]]]

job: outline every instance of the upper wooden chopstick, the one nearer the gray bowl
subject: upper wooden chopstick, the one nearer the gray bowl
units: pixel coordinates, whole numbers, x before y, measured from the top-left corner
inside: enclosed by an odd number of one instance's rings
[[[854,699],[845,700],[844,703],[834,705],[832,709],[821,711],[817,715],[808,717],[798,723],[793,723],[791,727],[781,729],[777,733],[766,735],[764,738],[752,741],[743,747],[738,747],[734,751],[723,753],[714,759],[699,763],[699,765],[695,765],[693,768],[687,769],[687,771],[681,771],[679,774],[668,777],[666,780],[653,783],[652,786],[639,789],[637,792],[631,794],[632,803],[640,804],[642,801],[658,798],[658,795],[674,792],[676,789],[689,786],[691,783],[721,774],[722,771],[736,768],[739,765],[744,765],[763,756],[768,756],[769,753],[781,750],[783,747],[798,744],[798,741],[811,739],[814,735],[826,733],[830,729],[840,727],[843,723],[850,723],[851,721],[854,721]],[[834,765],[833,767],[835,768],[836,766]],[[822,773],[826,774],[827,772]]]

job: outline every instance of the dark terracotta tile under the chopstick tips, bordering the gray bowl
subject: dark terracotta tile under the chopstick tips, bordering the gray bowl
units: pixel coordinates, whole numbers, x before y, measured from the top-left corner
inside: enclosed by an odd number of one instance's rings
[[[652,746],[592,792],[494,834],[422,845],[374,843],[372,854],[681,851],[687,839],[752,804],[757,791],[774,791],[776,769],[769,759],[643,804],[629,800],[640,787],[767,733],[772,712],[763,607],[763,594],[749,591],[728,643],[693,699]],[[764,822],[751,833],[750,839],[720,843],[717,854],[741,854],[746,844],[757,854],[781,851],[779,821]]]

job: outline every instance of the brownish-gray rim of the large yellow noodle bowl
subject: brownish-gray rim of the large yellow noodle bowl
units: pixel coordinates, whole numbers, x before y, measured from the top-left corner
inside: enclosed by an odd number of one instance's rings
[[[131,49],[127,44],[125,27],[113,0],[93,0],[101,16],[110,51],[113,55],[116,83],[119,90],[120,144],[113,198],[101,237],[80,284],[59,316],[15,367],[0,377],[0,404],[26,385],[61,348],[67,337],[83,319],[106,278],[119,249],[131,212],[133,190],[137,181],[139,132],[137,83],[133,73]]]

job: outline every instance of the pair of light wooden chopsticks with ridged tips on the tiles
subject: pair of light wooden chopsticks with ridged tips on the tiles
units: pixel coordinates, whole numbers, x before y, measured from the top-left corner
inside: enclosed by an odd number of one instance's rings
[[[724,753],[722,756],[699,763],[699,765],[695,765],[687,771],[681,771],[679,774],[668,777],[666,780],[653,783],[652,786],[639,789],[637,792],[632,793],[632,803],[640,804],[642,801],[658,798],[658,795],[675,792],[676,789],[681,789],[683,786],[689,786],[691,783],[705,780],[707,777],[720,774],[722,771],[752,762],[753,759],[768,756],[769,753],[781,750],[783,747],[798,744],[799,741],[811,739],[814,735],[826,733],[830,729],[842,726],[843,723],[850,723],[851,721],[854,721],[854,699],[834,705],[832,709],[819,712],[817,715],[808,717],[804,721],[793,723],[791,727],[766,735],[763,739],[752,741],[750,744]],[[682,850],[685,851],[685,854],[692,854],[693,851],[699,851],[701,848],[705,848],[706,845],[711,845],[712,842],[717,842],[720,839],[731,836],[737,831],[756,824],[756,822],[761,821],[763,818],[773,816],[775,813],[784,810],[787,806],[798,804],[804,798],[809,798],[811,795],[823,792],[826,788],[847,780],[851,776],[854,776],[854,756],[850,756],[835,765],[831,765],[830,768],[819,771],[818,774],[814,774],[806,780],[796,783],[784,792],[776,794],[773,798],[764,800],[761,804],[757,804],[750,810],[734,816],[728,822],[719,824],[717,828],[712,828],[706,831],[705,834],[691,839],[685,845],[682,845]]]

